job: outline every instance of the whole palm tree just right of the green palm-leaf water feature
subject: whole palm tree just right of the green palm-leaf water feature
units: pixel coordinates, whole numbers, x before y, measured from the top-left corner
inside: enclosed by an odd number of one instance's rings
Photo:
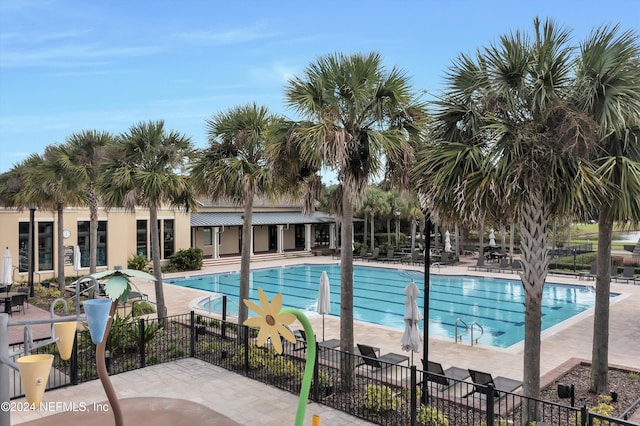
[[[165,130],[164,121],[141,122],[120,135],[103,163],[100,193],[107,207],[149,209],[151,256],[158,318],[167,316],[160,266],[158,209],[164,205],[190,210],[195,206],[188,179],[178,173],[191,155],[191,140]]]

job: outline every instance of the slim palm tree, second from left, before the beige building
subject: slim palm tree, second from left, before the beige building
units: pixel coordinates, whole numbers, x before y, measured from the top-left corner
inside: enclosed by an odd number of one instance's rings
[[[114,142],[108,132],[86,130],[74,133],[62,146],[64,165],[75,174],[80,183],[83,204],[89,207],[89,271],[96,272],[98,252],[98,207],[101,199],[99,190],[100,165],[105,159],[106,148]]]

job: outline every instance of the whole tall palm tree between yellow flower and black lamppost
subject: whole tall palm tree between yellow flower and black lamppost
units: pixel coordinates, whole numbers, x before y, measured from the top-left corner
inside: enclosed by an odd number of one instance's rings
[[[408,78],[387,70],[377,53],[331,54],[310,64],[285,87],[288,106],[305,122],[295,129],[305,163],[335,170],[340,190],[340,347],[353,350],[353,209],[373,176],[386,164],[413,158],[409,143],[424,117]],[[321,164],[318,164],[318,161]],[[405,168],[406,170],[407,168]],[[406,175],[406,174],[405,174]],[[342,384],[353,365],[341,363]]]

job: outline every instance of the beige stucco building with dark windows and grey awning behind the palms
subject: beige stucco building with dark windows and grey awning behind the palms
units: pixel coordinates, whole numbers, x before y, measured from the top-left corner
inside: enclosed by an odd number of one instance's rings
[[[240,254],[242,207],[224,203],[201,203],[197,212],[160,209],[158,222],[162,244],[161,260],[166,262],[178,250],[197,247],[205,258],[219,259]],[[34,228],[34,281],[57,277],[56,212],[51,210],[0,209],[0,247],[12,256],[14,282],[28,281],[29,231]],[[64,210],[63,244],[65,276],[89,272],[89,210]],[[252,254],[264,252],[311,251],[317,247],[335,248],[334,219],[324,213],[303,215],[299,206],[272,204],[256,200],[252,220]],[[76,246],[80,262],[75,259]],[[100,209],[98,213],[98,270],[115,265],[126,267],[135,254],[151,257],[149,211],[137,208]]]

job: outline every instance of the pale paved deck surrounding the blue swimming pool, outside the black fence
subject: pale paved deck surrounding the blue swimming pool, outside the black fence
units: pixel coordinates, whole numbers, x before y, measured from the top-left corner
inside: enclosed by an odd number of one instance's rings
[[[339,263],[330,256],[315,256],[293,258],[285,261],[267,261],[252,263],[252,268],[266,268],[282,266],[283,264],[326,264]],[[421,266],[409,266],[401,264],[388,264],[382,262],[355,261],[354,265],[375,266],[382,268],[407,269],[423,271]],[[475,265],[475,259],[463,259],[454,266],[432,267],[432,274],[442,275],[475,275],[488,277],[515,278],[517,275],[498,272],[469,271],[468,267]],[[236,266],[220,266],[201,270],[197,275],[212,272],[237,271]],[[182,274],[167,274],[166,277],[185,276]],[[574,285],[595,285],[593,280],[578,279],[571,276],[549,275],[547,282]],[[420,283],[417,283],[421,288]],[[141,283],[140,289],[153,299],[154,289],[152,283]],[[208,292],[178,287],[170,284],[164,286],[165,300],[169,315],[187,312],[190,303],[199,297],[208,295]],[[609,363],[626,367],[640,368],[638,354],[640,354],[640,327],[638,327],[638,306],[640,306],[640,285],[611,283],[611,291],[621,293],[610,305],[610,333],[609,333]],[[419,296],[421,297],[421,296]],[[286,300],[284,301],[286,304]],[[322,317],[316,313],[309,314],[309,321],[316,330],[316,336],[322,335]],[[295,327],[295,324],[293,326]],[[340,318],[333,315],[325,315],[325,340],[340,338]],[[370,323],[356,321],[354,335],[356,343],[373,344],[379,346],[381,353],[401,352],[400,339],[403,329],[384,327]],[[593,336],[593,309],[587,310],[577,316],[564,321],[558,326],[552,327],[542,333],[540,369],[541,375],[552,372],[571,358],[591,359]],[[419,365],[421,356],[414,355],[414,363]],[[494,376],[521,378],[523,374],[523,343],[509,348],[496,348],[491,346],[474,345],[469,342],[456,344],[451,339],[430,337],[429,359],[440,362],[443,367],[457,366],[463,368],[490,370]]]

